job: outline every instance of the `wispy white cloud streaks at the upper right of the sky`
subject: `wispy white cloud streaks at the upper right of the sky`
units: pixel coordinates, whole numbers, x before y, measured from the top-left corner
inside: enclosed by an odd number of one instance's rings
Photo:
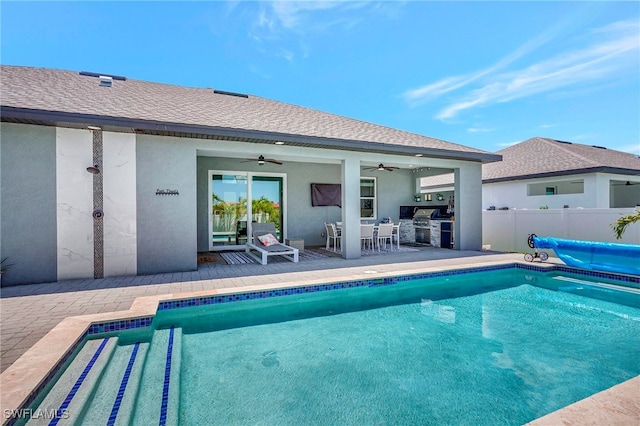
[[[546,43],[554,31],[525,44],[489,68],[466,76],[447,77],[403,94],[415,106],[447,92],[472,88],[436,115],[440,120],[455,117],[471,108],[509,102],[526,96],[548,93],[581,84],[601,84],[613,76],[637,70],[640,52],[640,31],[637,21],[621,21],[593,30],[590,44],[531,64],[526,68],[502,71],[516,59],[522,58],[537,46]]]

